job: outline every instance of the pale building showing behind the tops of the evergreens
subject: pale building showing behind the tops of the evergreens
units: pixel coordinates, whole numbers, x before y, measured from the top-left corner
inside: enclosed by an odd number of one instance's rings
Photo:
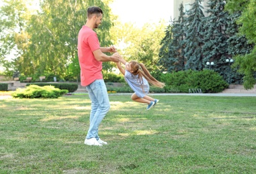
[[[207,6],[207,2],[209,0],[204,0],[202,1],[201,5],[204,7],[203,11],[204,11],[204,15],[207,16],[206,14],[206,6]],[[178,19],[179,17],[179,5],[181,5],[181,3],[183,3],[184,6],[184,12],[188,11],[189,9],[191,9],[191,4],[194,3],[195,0],[174,0],[173,1],[173,19]]]

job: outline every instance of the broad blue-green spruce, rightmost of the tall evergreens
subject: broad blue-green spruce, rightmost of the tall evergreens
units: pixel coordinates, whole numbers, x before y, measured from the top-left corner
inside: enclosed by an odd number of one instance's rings
[[[230,68],[232,56],[248,52],[250,46],[244,36],[237,35],[238,27],[235,19],[239,13],[228,14],[224,10],[226,1],[213,0],[208,2],[210,14],[205,18],[204,32],[204,62],[213,61],[214,70],[224,77],[227,82],[241,83],[241,74]]]

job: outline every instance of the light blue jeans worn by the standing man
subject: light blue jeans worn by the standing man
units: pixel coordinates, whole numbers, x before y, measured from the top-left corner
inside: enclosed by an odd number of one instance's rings
[[[95,80],[86,86],[91,99],[90,126],[86,139],[99,139],[98,128],[105,114],[110,110],[110,99],[104,80]]]

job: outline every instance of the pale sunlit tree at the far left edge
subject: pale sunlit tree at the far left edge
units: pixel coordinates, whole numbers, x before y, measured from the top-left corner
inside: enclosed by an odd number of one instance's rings
[[[0,10],[0,65],[7,72],[15,70],[15,56],[26,52],[28,33],[24,30],[29,15],[24,1],[3,1]]]

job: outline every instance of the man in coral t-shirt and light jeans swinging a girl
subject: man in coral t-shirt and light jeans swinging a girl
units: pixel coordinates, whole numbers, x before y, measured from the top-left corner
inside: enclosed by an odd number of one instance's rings
[[[91,99],[90,126],[85,145],[107,145],[99,139],[98,128],[105,114],[110,110],[108,91],[101,73],[102,62],[119,62],[118,53],[107,56],[103,52],[116,52],[114,46],[101,48],[97,34],[93,29],[101,23],[103,11],[99,7],[87,9],[87,21],[78,35],[78,57],[81,68],[81,86],[86,89]]]

